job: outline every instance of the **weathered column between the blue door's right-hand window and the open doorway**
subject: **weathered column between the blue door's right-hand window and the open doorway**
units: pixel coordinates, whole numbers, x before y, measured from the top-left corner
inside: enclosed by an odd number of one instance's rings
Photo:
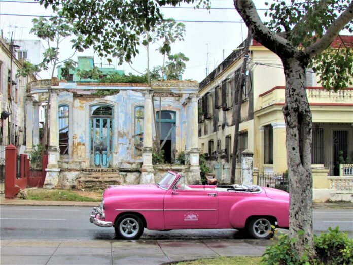
[[[142,169],[140,184],[155,183],[154,169],[152,166],[152,147],[153,147],[153,91],[149,90],[143,93],[145,97],[144,108],[144,148],[142,150]]]

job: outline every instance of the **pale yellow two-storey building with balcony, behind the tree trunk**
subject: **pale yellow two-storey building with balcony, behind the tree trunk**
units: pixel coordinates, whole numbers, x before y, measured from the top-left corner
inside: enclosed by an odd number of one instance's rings
[[[353,36],[344,37],[353,40]],[[222,158],[226,163],[231,160],[244,43],[199,84],[199,148],[216,175],[215,164],[217,167]],[[287,158],[282,63],[255,40],[251,42],[249,54],[237,162],[246,149],[254,153],[253,166],[260,173],[283,173],[287,170]],[[353,158],[353,88],[327,91],[311,69],[307,71],[306,81],[313,122],[313,167],[326,167],[329,175],[338,176],[339,164],[343,160],[352,163]]]

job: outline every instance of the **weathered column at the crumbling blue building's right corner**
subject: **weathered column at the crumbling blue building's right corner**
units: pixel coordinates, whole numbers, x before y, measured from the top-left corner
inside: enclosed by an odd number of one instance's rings
[[[188,183],[197,184],[201,182],[200,178],[200,165],[199,165],[199,156],[200,149],[198,148],[198,126],[197,126],[197,94],[190,95],[190,107],[191,113],[188,115],[188,132],[190,129],[190,151],[189,151],[189,160],[190,160],[190,174]],[[188,135],[189,138],[189,135]]]

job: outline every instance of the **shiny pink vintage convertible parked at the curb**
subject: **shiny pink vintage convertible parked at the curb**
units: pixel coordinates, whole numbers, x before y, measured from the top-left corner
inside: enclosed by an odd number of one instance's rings
[[[234,228],[268,239],[274,226],[289,226],[289,194],[259,186],[186,185],[184,176],[168,171],[158,184],[108,187],[90,222],[113,226],[123,239],[138,239],[145,227]]]

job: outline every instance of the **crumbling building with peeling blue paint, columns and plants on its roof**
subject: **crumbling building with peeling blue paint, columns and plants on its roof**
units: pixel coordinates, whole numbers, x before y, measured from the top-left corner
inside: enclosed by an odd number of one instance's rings
[[[151,86],[56,79],[31,82],[26,106],[33,118],[27,117],[26,152],[39,142],[38,109],[33,102],[46,102],[50,95],[46,187],[154,183],[160,176],[160,168],[152,164],[155,141],[163,143],[169,163],[179,152],[186,152],[187,165],[178,171],[187,175],[189,183],[197,183],[197,91],[194,81],[152,82]]]

